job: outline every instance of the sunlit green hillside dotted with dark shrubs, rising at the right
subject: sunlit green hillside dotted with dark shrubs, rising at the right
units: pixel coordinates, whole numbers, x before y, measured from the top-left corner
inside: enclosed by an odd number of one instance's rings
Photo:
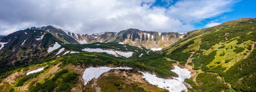
[[[184,39],[165,49],[163,54],[193,68],[195,74],[191,80],[198,84],[198,90],[229,90],[231,84],[231,90],[256,91],[255,82],[251,83],[256,81],[255,44],[256,19],[243,18],[188,32]],[[220,83],[209,82],[213,79],[207,76],[218,77]],[[220,85],[222,87],[217,88]]]

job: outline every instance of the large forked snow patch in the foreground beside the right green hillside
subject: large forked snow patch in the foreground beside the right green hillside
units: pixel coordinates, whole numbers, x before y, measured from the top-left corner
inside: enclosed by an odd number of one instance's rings
[[[189,70],[182,69],[178,66],[174,66],[175,69],[171,70],[179,75],[179,77],[174,77],[174,79],[162,79],[156,77],[156,75],[149,74],[146,72],[141,72],[143,74],[143,78],[145,78],[149,83],[153,85],[157,85],[159,88],[165,88],[170,92],[181,92],[182,90],[186,90],[187,88],[184,85],[184,79],[189,79],[191,77]]]

